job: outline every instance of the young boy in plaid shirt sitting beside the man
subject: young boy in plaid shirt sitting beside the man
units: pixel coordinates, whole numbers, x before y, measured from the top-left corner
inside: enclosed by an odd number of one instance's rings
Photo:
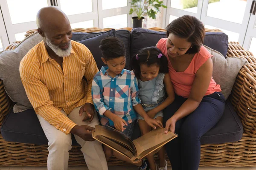
[[[102,61],[108,65],[103,66],[94,76],[92,86],[93,102],[102,117],[101,124],[114,127],[131,138],[137,112],[151,127],[163,127],[160,121],[149,118],[140,104],[137,78],[132,71],[124,69],[124,43],[116,37],[107,37],[101,41],[99,48],[102,51]],[[103,150],[107,160],[113,154],[118,159],[132,163],[106,145],[103,145]],[[149,169],[147,161],[144,160],[135,165],[140,170]]]

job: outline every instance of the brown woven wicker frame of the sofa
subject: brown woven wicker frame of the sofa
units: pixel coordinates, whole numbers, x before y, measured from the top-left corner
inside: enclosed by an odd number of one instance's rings
[[[131,31],[132,28],[122,28]],[[162,28],[150,28],[155,31],[165,31]],[[99,32],[108,31],[110,28],[73,29],[73,32]],[[26,33],[26,36],[36,30]],[[208,30],[206,31],[219,31]],[[6,49],[12,50],[19,42],[14,42]],[[241,118],[244,133],[238,142],[223,144],[202,144],[200,166],[213,167],[256,167],[256,58],[250,51],[244,50],[237,42],[229,42],[227,57],[243,57],[249,64],[241,68],[233,91],[231,101]],[[13,106],[12,100],[3,88],[0,80],[0,127],[5,116]],[[24,144],[8,142],[0,134],[0,166],[46,166],[47,145]],[[124,165],[123,161],[111,158],[109,165]],[[73,146],[70,150],[70,166],[85,165],[83,154],[79,146]]]

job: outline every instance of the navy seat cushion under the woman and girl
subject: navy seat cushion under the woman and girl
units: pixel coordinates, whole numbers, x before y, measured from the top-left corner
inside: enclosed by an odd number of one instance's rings
[[[140,137],[138,124],[134,126],[132,140]],[[243,136],[243,125],[229,99],[219,122],[201,137],[201,144],[219,144],[239,141]]]

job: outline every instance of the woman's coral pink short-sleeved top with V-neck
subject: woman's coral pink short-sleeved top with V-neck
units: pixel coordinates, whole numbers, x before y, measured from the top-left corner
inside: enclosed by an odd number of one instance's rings
[[[168,59],[169,75],[171,77],[175,94],[177,94],[178,96],[182,96],[184,98],[188,98],[193,82],[195,80],[196,72],[207,61],[207,59],[212,57],[212,54],[210,54],[209,51],[207,51],[207,49],[204,46],[202,46],[200,51],[196,53],[195,56],[193,57],[188,68],[186,68],[186,70],[183,72],[176,72],[175,69],[172,67],[172,64],[167,54],[167,40],[167,38],[160,39],[157,43],[157,48],[159,48]],[[205,95],[213,94],[216,91],[220,92],[221,86],[217,85],[214,79],[211,79]]]

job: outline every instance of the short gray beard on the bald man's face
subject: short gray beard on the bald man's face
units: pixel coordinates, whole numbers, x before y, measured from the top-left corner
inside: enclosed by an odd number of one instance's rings
[[[52,44],[52,42],[48,39],[48,37],[45,38],[46,44],[49,46],[49,48],[52,49],[52,51],[58,56],[58,57],[68,57],[71,53],[71,41],[69,42],[69,47],[65,50],[58,47],[58,45]]]

